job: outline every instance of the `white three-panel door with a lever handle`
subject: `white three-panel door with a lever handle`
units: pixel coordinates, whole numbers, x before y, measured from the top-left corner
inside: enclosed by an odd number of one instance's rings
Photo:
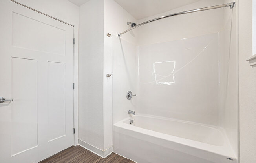
[[[0,0],[0,163],[74,145],[73,27]]]

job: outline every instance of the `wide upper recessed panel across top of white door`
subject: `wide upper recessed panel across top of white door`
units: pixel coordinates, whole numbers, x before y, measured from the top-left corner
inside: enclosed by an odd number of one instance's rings
[[[66,31],[64,29],[15,12],[13,12],[12,23],[13,46],[65,55]]]

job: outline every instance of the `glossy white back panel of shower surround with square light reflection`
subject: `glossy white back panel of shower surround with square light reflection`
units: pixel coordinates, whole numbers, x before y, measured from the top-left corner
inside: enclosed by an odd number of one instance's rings
[[[218,33],[142,45],[137,111],[219,125]]]

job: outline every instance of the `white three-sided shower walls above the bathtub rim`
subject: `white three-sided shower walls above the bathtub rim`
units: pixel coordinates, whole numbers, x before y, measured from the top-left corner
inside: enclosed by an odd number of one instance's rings
[[[228,2],[201,0],[135,22]],[[223,127],[238,155],[236,33],[236,7],[233,13],[226,7],[166,18],[114,36],[113,123],[134,110]],[[128,90],[137,94],[130,101]]]

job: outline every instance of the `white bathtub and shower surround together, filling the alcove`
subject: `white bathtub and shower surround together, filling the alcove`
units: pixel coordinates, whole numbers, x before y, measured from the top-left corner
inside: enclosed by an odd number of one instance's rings
[[[208,2],[162,15],[203,6]],[[117,154],[139,163],[238,162],[236,7],[203,12],[159,20],[126,33],[135,42],[123,38],[125,34],[113,36],[113,150]],[[205,22],[210,16],[211,21]],[[189,24],[189,30],[182,30],[184,24]],[[129,90],[137,95],[130,101]]]

